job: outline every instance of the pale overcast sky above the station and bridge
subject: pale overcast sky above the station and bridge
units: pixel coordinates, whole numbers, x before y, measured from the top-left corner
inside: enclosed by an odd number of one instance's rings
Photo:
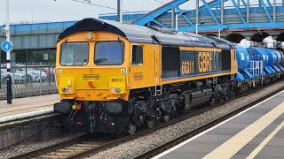
[[[79,0],[83,1],[83,0]],[[171,0],[122,0],[123,11],[152,11]],[[212,0],[206,0],[209,2]],[[237,1],[237,0],[236,0]],[[245,0],[247,1],[247,0]],[[249,0],[251,4],[258,0]],[[271,2],[273,0],[270,0]],[[281,0],[277,0],[280,2]],[[5,21],[5,2],[0,0],[0,26]],[[116,12],[117,0],[91,0],[92,4],[105,5],[114,9],[107,9],[91,4],[82,4],[73,0],[9,0],[11,22],[40,22],[40,21],[70,21],[83,18],[98,18],[102,13]],[[162,2],[162,3],[161,3]],[[229,1],[230,2],[230,1]],[[193,9],[195,0],[181,5],[181,9]]]

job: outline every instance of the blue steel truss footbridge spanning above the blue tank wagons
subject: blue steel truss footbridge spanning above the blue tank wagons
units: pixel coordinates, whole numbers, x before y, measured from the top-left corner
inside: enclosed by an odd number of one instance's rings
[[[173,0],[132,24],[219,35],[231,42],[246,38],[284,42],[284,0]]]

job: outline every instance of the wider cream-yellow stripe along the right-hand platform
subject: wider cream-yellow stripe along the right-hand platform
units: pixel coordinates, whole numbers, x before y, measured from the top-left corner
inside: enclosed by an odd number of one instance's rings
[[[218,148],[214,149],[208,155],[205,155],[204,159],[212,158],[231,158],[241,148],[248,144],[258,133],[261,133],[265,127],[271,125],[272,122],[284,112],[284,102],[279,106],[265,114],[263,117],[257,119],[253,124],[248,125],[240,133],[237,133],[230,140],[225,141]],[[233,124],[232,124],[233,125]]]

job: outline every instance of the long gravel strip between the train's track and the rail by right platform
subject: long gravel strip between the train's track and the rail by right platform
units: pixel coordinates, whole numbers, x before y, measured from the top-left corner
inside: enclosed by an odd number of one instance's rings
[[[168,140],[176,139],[177,137],[192,131],[193,129],[204,125],[217,117],[222,117],[225,114],[237,110],[249,102],[256,101],[257,99],[270,95],[280,87],[284,87],[284,82],[276,83],[270,87],[264,87],[262,90],[247,96],[243,96],[232,102],[228,102],[223,106],[217,107],[208,112],[204,112],[198,116],[188,118],[175,125],[170,125],[161,130],[150,133],[146,136],[140,137],[136,140],[125,142],[117,147],[109,148],[101,151],[98,154],[90,155],[86,158],[100,158],[100,159],[117,159],[117,158],[133,158],[143,152],[150,150],[156,146],[162,145]]]

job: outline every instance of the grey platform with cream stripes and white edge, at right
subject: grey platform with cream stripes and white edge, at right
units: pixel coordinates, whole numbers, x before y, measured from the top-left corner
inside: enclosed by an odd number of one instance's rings
[[[154,158],[284,158],[284,92]]]

